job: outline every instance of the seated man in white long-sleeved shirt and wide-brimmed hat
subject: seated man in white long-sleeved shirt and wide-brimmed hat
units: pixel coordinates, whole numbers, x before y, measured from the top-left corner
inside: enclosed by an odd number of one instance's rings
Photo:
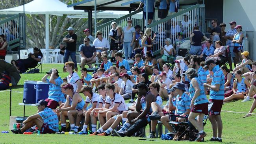
[[[110,48],[109,42],[106,38],[102,37],[100,30],[96,32],[96,39],[93,41],[93,45],[96,48],[98,59],[100,59],[101,55],[108,55],[107,50]]]

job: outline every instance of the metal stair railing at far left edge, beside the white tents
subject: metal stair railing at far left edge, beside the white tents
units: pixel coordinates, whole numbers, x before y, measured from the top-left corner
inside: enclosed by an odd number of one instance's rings
[[[25,14],[0,15],[0,34],[5,35],[7,50],[26,46],[25,28]]]

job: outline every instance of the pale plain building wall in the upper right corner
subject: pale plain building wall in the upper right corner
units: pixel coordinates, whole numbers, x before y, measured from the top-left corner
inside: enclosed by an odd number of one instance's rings
[[[230,29],[228,22],[235,20],[242,26],[243,31],[249,33],[250,57],[256,60],[256,0],[224,0],[223,22],[226,23],[226,31]],[[254,34],[252,34],[254,33]],[[253,54],[253,51],[254,54]]]

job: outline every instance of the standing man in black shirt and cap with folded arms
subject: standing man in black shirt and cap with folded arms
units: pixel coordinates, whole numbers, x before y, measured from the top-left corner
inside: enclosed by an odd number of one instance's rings
[[[76,39],[77,36],[74,33],[74,29],[72,27],[69,27],[67,29],[68,35],[65,36],[65,38],[62,40],[63,42],[67,42],[67,48],[65,50],[64,54],[64,63],[66,63],[69,60],[69,56],[71,57],[72,61],[74,62],[74,69],[77,72],[77,63],[76,63]],[[63,67],[63,72],[66,72],[65,66]]]

